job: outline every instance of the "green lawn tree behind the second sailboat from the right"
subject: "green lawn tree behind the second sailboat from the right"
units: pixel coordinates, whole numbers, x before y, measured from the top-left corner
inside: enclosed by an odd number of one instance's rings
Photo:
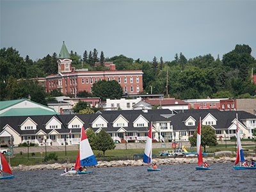
[[[197,136],[197,129],[193,136],[189,137],[190,145],[196,146],[196,136]],[[204,147],[204,152],[206,152],[206,146],[216,146],[216,134],[214,129],[212,129],[209,125],[202,125],[201,130],[201,146]]]

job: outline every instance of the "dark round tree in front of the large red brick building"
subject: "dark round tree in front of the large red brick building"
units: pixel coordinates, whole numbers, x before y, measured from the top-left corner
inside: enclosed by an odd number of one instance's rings
[[[98,81],[92,86],[93,97],[100,97],[102,100],[106,99],[120,99],[123,94],[123,89],[120,84],[113,81]]]

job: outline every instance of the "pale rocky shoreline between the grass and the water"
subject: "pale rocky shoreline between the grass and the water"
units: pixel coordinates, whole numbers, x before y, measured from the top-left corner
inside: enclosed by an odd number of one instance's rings
[[[252,159],[256,161],[256,157],[246,157],[249,161]],[[204,158],[205,161],[211,163],[234,163],[236,157],[207,157]],[[154,159],[158,165],[161,164],[196,164],[197,158],[166,158],[166,159]],[[29,170],[63,170],[64,168],[71,168],[74,166],[74,163],[54,163],[54,164],[36,164],[36,165],[22,165],[13,166],[13,171],[29,171]],[[146,163],[143,163],[142,159],[139,160],[126,160],[126,161],[98,161],[96,168],[102,167],[120,167],[120,166],[147,166]]]

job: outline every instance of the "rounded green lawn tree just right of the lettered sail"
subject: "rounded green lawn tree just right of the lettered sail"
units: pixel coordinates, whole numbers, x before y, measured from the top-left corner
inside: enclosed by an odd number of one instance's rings
[[[103,129],[99,132],[99,134],[97,134],[95,143],[95,149],[101,150],[103,152],[103,157],[105,157],[106,150],[111,150],[116,147],[111,136]]]

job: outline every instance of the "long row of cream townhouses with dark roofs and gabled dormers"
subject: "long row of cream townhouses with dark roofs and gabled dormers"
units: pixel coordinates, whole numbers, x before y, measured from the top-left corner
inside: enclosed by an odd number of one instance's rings
[[[238,121],[236,119],[238,115]],[[150,124],[156,141],[188,141],[196,131],[198,120],[216,131],[218,140],[236,136],[238,123],[241,139],[252,138],[256,131],[256,116],[245,111],[218,109],[169,109],[98,111],[91,115],[24,115],[0,116],[1,145],[17,146],[32,142],[38,145],[78,144],[81,127],[102,129],[116,142],[145,141]]]

